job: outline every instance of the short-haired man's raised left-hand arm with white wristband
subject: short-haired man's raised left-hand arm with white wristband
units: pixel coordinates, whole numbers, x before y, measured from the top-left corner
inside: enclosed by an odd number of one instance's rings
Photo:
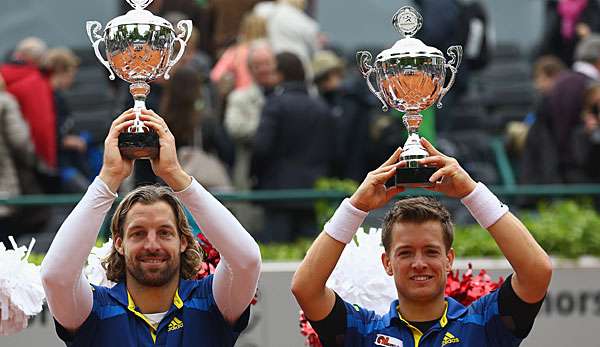
[[[401,152],[399,148],[379,168],[369,172],[352,197],[342,202],[296,270],[292,293],[308,319],[322,320],[333,309],[335,294],[325,284],[368,212],[402,191],[399,187],[385,187],[385,182],[396,173]]]

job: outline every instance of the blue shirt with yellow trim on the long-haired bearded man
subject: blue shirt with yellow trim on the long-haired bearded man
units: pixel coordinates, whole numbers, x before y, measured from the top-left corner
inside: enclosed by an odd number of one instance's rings
[[[213,276],[181,280],[167,315],[154,329],[139,312],[124,283],[93,286],[94,304],[87,320],[71,336],[55,321],[67,346],[233,346],[248,325],[250,307],[235,326],[221,315],[212,294]]]

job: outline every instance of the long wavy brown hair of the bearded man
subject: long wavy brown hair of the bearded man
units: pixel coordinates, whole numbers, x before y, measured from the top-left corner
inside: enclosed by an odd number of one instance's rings
[[[188,223],[183,209],[173,191],[163,186],[142,186],[136,188],[121,201],[117,207],[111,221],[111,233],[113,240],[124,238],[125,218],[134,204],[140,203],[151,205],[159,201],[164,201],[173,210],[175,222],[179,237],[187,241],[187,248],[181,254],[180,275],[183,279],[193,279],[198,273],[200,262],[202,261],[202,250],[192,234],[192,228]],[[106,270],[106,277],[113,282],[122,282],[125,280],[125,257],[117,251],[114,246],[109,256],[102,262]]]

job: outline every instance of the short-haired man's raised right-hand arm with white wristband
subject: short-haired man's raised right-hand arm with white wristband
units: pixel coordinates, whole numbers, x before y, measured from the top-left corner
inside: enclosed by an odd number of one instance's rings
[[[440,167],[431,181],[442,179],[442,182],[433,190],[460,198],[477,222],[489,231],[515,272],[511,284],[519,298],[526,303],[542,300],[552,277],[548,254],[508,207],[483,183],[476,183],[456,159],[443,155],[425,139],[422,143],[431,154],[422,163]]]

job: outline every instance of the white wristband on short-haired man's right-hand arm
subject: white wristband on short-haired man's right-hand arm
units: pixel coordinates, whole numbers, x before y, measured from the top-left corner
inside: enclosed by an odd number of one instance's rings
[[[475,189],[460,202],[471,212],[477,223],[485,229],[494,225],[508,212],[508,206],[503,204],[491,190],[478,182]]]

